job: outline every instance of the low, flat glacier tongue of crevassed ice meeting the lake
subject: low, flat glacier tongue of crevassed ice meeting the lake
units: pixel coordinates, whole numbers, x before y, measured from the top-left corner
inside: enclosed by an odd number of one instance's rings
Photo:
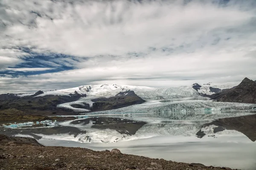
[[[232,111],[251,110],[256,104],[214,102],[212,100],[184,100],[175,102],[161,102],[160,100],[149,100],[140,105],[132,105],[109,111],[97,111],[90,114],[126,114],[126,113],[158,113],[158,112],[209,112],[209,111]]]

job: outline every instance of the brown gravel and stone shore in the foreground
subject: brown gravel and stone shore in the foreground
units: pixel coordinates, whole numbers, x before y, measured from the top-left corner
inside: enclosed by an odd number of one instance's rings
[[[118,149],[45,147],[35,139],[0,135],[0,170],[232,170],[122,154]]]

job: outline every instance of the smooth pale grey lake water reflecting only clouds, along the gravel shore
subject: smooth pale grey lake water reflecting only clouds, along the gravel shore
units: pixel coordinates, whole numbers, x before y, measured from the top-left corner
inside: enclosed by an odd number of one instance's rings
[[[151,158],[243,170],[256,169],[256,143],[246,136],[222,136],[215,139],[158,136],[117,143],[80,143],[52,139],[41,139],[39,142],[46,146],[86,147],[92,150],[118,148],[122,153]]]

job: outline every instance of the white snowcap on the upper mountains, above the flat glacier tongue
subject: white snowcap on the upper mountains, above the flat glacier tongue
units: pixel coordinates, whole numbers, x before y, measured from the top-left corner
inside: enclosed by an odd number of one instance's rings
[[[38,96],[45,95],[58,95],[69,96],[75,92],[78,94],[86,94],[89,98],[95,97],[111,97],[119,92],[132,90],[142,99],[177,99],[184,97],[198,96],[198,92],[189,86],[180,86],[172,88],[150,88],[145,86],[133,85],[116,85],[116,84],[103,84],[103,85],[82,85],[76,88],[68,88],[54,91],[46,91]],[[32,94],[20,94],[18,96],[29,96]]]

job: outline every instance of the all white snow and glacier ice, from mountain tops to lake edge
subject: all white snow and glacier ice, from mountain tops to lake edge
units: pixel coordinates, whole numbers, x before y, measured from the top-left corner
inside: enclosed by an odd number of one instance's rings
[[[203,85],[194,84],[192,86],[180,86],[172,88],[150,88],[144,86],[132,85],[82,85],[76,88],[61,89],[55,91],[46,91],[38,96],[45,95],[64,95],[70,94],[86,94],[86,97],[59,104],[59,108],[71,109],[73,111],[88,112],[88,108],[93,106],[93,99],[100,97],[113,97],[119,92],[128,90],[134,91],[137,96],[146,102],[140,105],[133,105],[125,108],[119,108],[111,111],[100,111],[104,113],[149,113],[149,112],[191,112],[191,111],[223,111],[223,110],[239,110],[250,109],[255,107],[252,104],[241,103],[224,103],[213,102],[209,98],[201,96],[201,94],[215,94],[227,88],[232,88],[234,84],[214,84],[207,83]],[[28,94],[23,94],[27,96]],[[20,95],[22,96],[22,95]],[[35,96],[37,97],[37,96]],[[89,105],[88,108],[84,106]],[[79,106],[79,107],[74,107]],[[81,107],[80,107],[81,106]]]

